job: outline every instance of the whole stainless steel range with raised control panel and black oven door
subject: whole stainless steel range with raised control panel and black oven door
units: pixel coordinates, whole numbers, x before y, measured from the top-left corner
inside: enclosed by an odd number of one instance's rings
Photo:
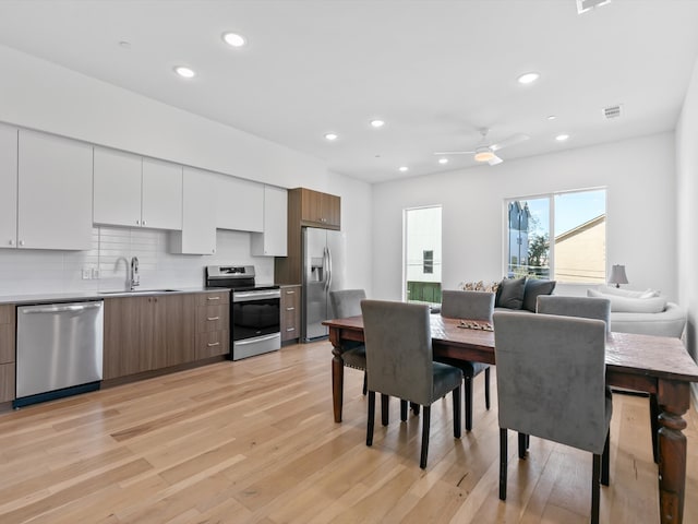
[[[256,285],[253,265],[208,265],[206,286],[230,293],[230,357],[232,360],[281,348],[281,291]]]

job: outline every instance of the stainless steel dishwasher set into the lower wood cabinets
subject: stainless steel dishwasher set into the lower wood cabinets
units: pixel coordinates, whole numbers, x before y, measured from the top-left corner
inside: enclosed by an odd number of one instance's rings
[[[104,301],[17,307],[14,407],[99,389]]]

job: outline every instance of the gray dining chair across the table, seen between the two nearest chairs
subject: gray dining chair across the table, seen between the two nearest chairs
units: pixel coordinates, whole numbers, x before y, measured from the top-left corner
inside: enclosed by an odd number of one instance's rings
[[[441,294],[441,299],[442,317],[492,321],[494,293],[445,289]],[[466,431],[470,431],[472,429],[472,380],[482,371],[484,371],[484,405],[490,409],[490,365],[450,358],[438,358],[438,361],[456,366],[462,370]]]

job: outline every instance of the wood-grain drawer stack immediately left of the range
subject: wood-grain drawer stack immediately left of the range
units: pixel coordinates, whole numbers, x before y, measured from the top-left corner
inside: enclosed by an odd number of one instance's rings
[[[195,358],[230,353],[230,291],[196,294]]]

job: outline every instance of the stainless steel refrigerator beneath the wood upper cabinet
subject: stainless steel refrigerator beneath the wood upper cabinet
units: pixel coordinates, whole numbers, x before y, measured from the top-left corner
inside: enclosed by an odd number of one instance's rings
[[[305,342],[327,336],[324,320],[334,319],[329,291],[345,283],[345,235],[303,227],[303,325]]]

